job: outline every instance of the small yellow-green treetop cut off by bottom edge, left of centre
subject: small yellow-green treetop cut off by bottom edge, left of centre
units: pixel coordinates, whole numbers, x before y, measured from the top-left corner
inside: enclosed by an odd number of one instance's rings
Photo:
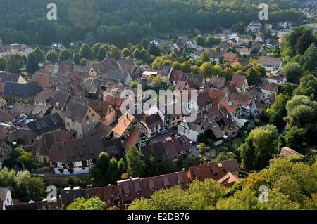
[[[99,197],[85,199],[76,198],[75,201],[67,207],[67,210],[105,210],[106,203],[102,202]]]

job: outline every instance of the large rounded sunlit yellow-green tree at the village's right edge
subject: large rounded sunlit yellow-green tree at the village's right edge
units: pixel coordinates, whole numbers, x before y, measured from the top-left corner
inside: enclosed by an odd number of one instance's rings
[[[242,168],[259,170],[266,167],[278,152],[277,140],[278,130],[271,124],[252,130],[239,148]]]

